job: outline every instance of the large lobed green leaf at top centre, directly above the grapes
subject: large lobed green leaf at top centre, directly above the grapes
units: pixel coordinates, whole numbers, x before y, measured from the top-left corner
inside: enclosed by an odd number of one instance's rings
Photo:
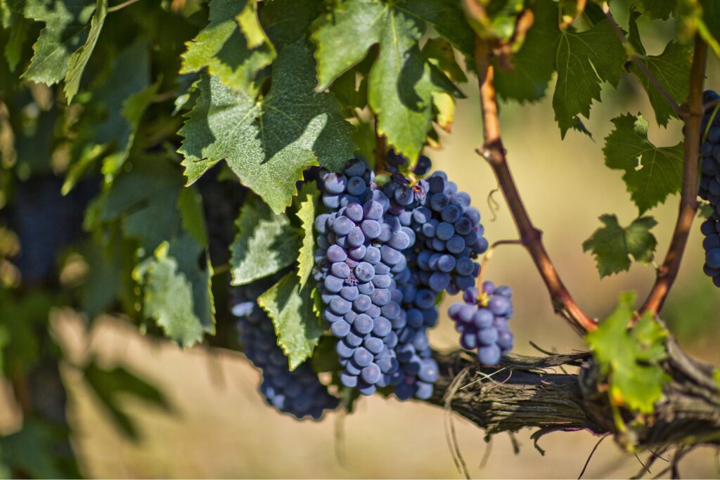
[[[380,44],[369,76],[369,104],[377,114],[378,132],[412,160],[420,154],[431,127],[433,92],[462,96],[420,53],[418,40],[425,19],[433,17],[426,7],[426,1],[350,0],[313,35],[318,43],[319,89],[364,58],[371,45]],[[348,42],[348,36],[355,41]]]

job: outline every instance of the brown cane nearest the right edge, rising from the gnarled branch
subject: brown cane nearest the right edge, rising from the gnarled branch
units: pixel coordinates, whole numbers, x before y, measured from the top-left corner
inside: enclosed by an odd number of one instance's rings
[[[655,283],[650,290],[639,314],[646,312],[657,313],[670,293],[675,277],[678,276],[680,263],[683,260],[685,245],[690,236],[690,227],[698,210],[698,158],[700,155],[701,123],[705,110],[703,109],[703,81],[708,59],[708,44],[700,37],[695,37],[693,52],[693,65],[690,67],[690,96],[683,109],[688,112],[684,117],[685,127],[683,133],[683,186],[680,190],[680,210],[675,230],[672,232],[670,248],[665,255],[665,261],[657,269]]]

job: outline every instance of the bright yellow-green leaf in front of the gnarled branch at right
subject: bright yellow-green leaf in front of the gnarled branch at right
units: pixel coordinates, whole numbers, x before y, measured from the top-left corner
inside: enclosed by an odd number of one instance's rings
[[[632,330],[635,295],[622,294],[618,306],[585,337],[610,386],[611,402],[636,412],[651,414],[662,398],[662,387],[670,376],[659,362],[665,359],[667,331],[644,314]]]

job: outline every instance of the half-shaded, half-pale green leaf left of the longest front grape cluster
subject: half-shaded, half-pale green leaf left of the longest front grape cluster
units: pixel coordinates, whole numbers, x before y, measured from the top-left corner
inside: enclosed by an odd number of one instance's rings
[[[249,284],[292,264],[300,248],[300,236],[284,213],[275,214],[261,199],[252,196],[235,222],[238,236],[230,245],[233,285]]]

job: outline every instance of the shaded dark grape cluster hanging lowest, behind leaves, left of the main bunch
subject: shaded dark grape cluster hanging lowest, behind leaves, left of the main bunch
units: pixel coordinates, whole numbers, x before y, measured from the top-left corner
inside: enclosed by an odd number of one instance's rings
[[[272,321],[256,304],[262,291],[242,286],[231,292],[231,309],[239,318],[243,353],[262,371],[260,391],[268,404],[298,419],[318,420],[323,411],[338,407],[338,399],[328,393],[308,363],[289,371],[287,357],[277,345]]]

